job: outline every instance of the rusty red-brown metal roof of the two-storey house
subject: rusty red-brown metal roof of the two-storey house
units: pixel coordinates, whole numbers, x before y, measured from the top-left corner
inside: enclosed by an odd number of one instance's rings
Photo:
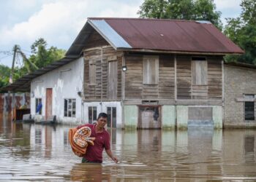
[[[228,39],[214,25],[206,21],[165,20],[144,18],[89,18],[90,24],[105,21],[132,49],[165,50],[173,52],[206,52],[218,54],[241,54],[241,48]],[[105,35],[107,25],[97,28]],[[109,33],[109,32],[108,32]],[[109,35],[105,35],[108,38]],[[125,48],[109,43],[116,49]]]

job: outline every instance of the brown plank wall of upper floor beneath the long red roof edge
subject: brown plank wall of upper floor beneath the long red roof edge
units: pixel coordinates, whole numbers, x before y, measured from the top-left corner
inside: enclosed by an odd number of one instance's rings
[[[158,84],[143,84],[143,55],[125,57],[125,99],[174,100],[175,66],[173,55],[159,55]],[[176,89],[178,100],[221,100],[222,58],[206,57],[206,82],[193,84],[191,56],[176,56]],[[195,72],[195,71],[194,71]]]

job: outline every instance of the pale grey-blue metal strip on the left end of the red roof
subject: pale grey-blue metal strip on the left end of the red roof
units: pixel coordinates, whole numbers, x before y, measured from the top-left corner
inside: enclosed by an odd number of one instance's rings
[[[115,49],[117,47],[132,48],[105,20],[89,20],[95,28]]]

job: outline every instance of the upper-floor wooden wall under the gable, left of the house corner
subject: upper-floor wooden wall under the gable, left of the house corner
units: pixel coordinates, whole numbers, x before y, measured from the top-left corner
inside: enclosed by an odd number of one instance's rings
[[[94,47],[83,52],[84,56],[84,93],[85,100],[121,100],[121,61],[122,52],[116,52],[113,47]],[[96,82],[91,84],[89,82],[89,61],[95,63],[96,66]],[[116,96],[108,97],[109,84],[108,83],[108,63],[110,61],[117,62],[116,70]],[[113,73],[112,73],[113,75]]]

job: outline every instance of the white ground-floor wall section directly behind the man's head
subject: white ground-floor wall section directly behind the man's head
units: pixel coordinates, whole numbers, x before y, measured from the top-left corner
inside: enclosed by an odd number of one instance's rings
[[[122,127],[122,109],[121,102],[91,102],[83,103],[84,120],[82,123],[88,123],[89,121],[89,107],[97,106],[97,115],[101,112],[107,113],[107,107],[116,107],[116,128]]]

